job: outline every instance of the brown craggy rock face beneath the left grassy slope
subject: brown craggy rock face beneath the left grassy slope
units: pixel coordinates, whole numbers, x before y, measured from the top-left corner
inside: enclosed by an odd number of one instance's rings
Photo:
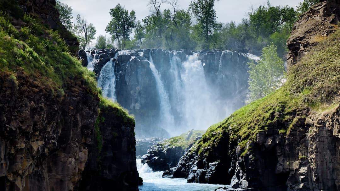
[[[52,91],[24,75],[1,77],[0,178],[3,190],[74,190],[94,140],[98,99],[76,80],[74,91]],[[78,92],[79,91],[79,92]]]

